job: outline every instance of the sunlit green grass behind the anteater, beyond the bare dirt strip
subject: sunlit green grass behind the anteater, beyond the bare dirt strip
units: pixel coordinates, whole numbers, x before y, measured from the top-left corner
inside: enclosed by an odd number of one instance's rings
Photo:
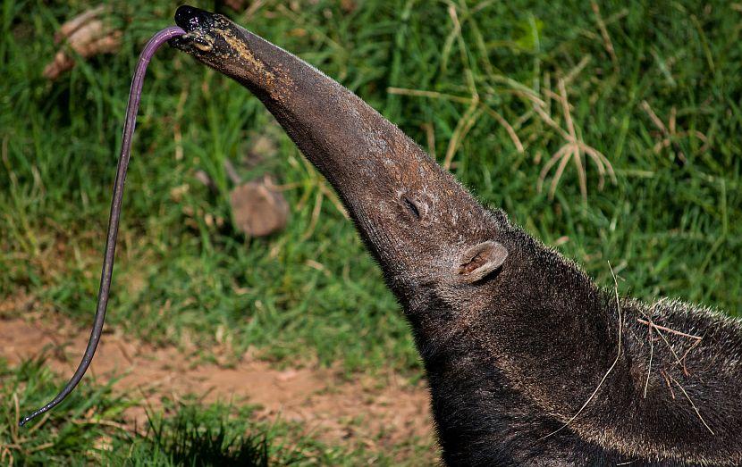
[[[55,54],[55,29],[90,5],[4,0],[0,24],[0,296],[27,291],[80,326],[94,309],[133,64],[177,6],[114,4],[121,51],[48,82],[41,71]],[[448,155],[485,204],[502,206],[599,283],[609,284],[610,261],[622,292],[737,314],[742,4],[599,6],[596,14],[586,2],[543,0],[266,1],[229,14],[339,79],[439,161]],[[576,138],[616,172],[616,184],[601,191],[586,161],[585,199],[573,163],[553,199],[556,167],[538,190],[544,163],[568,142],[555,128],[568,129],[561,79]],[[349,375],[419,375],[380,272],[350,222],[320,196],[324,181],[275,127],[235,83],[167,47],[156,54],[109,323],[150,341],[188,340],[206,357],[215,343],[235,354],[256,346],[282,364],[317,359]],[[246,164],[264,136],[274,150]],[[232,229],[227,159],[244,179],[270,172],[291,187],[285,231],[246,239]],[[199,170],[215,193],[195,179]]]

